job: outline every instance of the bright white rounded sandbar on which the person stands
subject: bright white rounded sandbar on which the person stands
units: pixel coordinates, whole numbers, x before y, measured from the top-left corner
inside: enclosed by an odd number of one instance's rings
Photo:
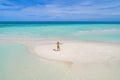
[[[34,47],[34,51],[46,59],[73,63],[120,61],[120,45],[117,44],[63,41],[60,46],[61,51],[54,51],[55,43],[47,42],[47,44],[37,45]]]

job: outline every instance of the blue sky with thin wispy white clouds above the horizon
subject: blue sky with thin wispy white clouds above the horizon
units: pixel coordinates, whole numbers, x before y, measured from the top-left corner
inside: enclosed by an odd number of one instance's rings
[[[0,0],[0,21],[120,21],[120,0]]]

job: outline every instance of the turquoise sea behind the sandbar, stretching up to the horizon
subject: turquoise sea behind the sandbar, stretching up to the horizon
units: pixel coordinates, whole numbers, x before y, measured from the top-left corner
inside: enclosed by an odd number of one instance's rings
[[[1,37],[120,41],[119,23],[1,23]]]

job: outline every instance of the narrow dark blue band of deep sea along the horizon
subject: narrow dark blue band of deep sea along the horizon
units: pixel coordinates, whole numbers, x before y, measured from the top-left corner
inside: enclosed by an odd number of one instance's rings
[[[120,24],[120,21],[0,21],[0,24]]]

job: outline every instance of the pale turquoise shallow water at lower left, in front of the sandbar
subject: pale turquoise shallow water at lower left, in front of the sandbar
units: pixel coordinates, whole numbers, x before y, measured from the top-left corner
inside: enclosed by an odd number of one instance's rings
[[[21,44],[0,44],[0,80],[64,80],[71,78],[66,70],[65,64],[40,59]]]

